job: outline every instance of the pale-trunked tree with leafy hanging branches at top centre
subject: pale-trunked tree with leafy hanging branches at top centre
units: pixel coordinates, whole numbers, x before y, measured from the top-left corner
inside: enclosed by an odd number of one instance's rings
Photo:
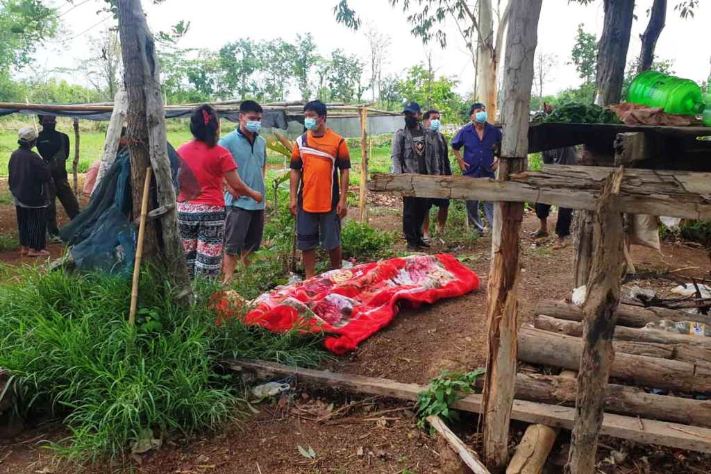
[[[489,115],[496,119],[497,70],[501,56],[503,33],[508,23],[509,2],[501,9],[501,1],[479,0],[479,9],[473,9],[466,0],[387,0],[392,6],[402,4],[407,14],[407,21],[412,24],[412,34],[422,38],[423,43],[435,38],[442,48],[447,46],[447,33],[444,23],[447,18],[455,18],[463,38],[476,38],[476,83],[481,102],[486,104]],[[419,7],[419,11],[410,13],[410,8]],[[347,0],[341,0],[334,9],[336,20],[349,28],[358,29],[360,20]],[[496,18],[496,28],[494,19]],[[472,41],[469,41],[470,50]],[[472,81],[474,82],[474,81]]]

